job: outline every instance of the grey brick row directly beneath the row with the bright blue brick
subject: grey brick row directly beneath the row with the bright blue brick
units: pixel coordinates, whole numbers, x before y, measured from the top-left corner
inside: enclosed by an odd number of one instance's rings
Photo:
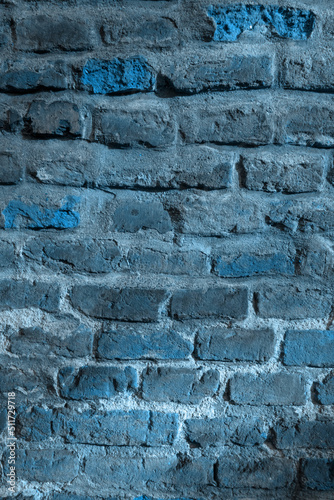
[[[61,100],[6,96],[0,104],[0,129],[25,137],[84,139],[107,146],[166,147],[181,137],[185,144],[261,146],[291,144],[333,148],[333,102],[289,93],[275,98],[252,93],[237,98],[177,97],[169,106],[153,96],[102,100],[97,106],[71,93]],[[255,97],[256,96],[256,97]],[[104,98],[100,98],[104,99]],[[196,107],[194,106],[196,99]],[[182,106],[180,106],[182,105]],[[124,109],[126,107],[126,110]]]

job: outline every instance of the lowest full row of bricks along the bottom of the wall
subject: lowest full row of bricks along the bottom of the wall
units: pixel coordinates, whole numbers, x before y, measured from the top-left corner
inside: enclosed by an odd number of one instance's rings
[[[17,464],[25,480],[59,483],[72,481],[79,475],[79,456],[69,448],[18,450],[17,453]],[[124,460],[127,472],[124,471]],[[151,487],[156,488],[161,480],[181,492],[193,491],[194,487],[205,491],[210,485],[220,488],[274,490],[291,486],[297,475],[297,467],[300,467],[304,488],[327,490],[333,488],[330,472],[332,466],[333,461],[326,458],[307,458],[297,463],[288,458],[263,453],[250,454],[247,459],[242,459],[237,454],[221,455],[217,461],[202,456],[184,456],[182,460],[175,455],[153,457],[146,454],[143,460],[140,455],[96,457],[85,454],[84,475],[79,475],[76,484],[85,487],[89,478],[90,484],[98,484],[102,492],[115,484],[120,488],[139,486],[146,490],[149,482]],[[5,466],[5,472],[7,471]]]

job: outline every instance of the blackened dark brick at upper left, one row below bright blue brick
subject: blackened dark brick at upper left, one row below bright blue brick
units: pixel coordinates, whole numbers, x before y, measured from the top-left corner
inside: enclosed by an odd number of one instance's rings
[[[42,137],[79,137],[90,135],[91,116],[85,108],[68,101],[34,101],[26,116],[27,134]]]

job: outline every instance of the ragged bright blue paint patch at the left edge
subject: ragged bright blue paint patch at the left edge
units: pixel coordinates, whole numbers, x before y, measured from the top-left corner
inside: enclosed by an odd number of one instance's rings
[[[27,219],[28,229],[69,229],[80,223],[80,214],[72,210],[79,202],[77,196],[67,196],[66,203],[58,210],[46,208],[41,210],[37,205],[26,205],[20,200],[12,200],[3,210],[5,229],[14,229],[18,216]]]

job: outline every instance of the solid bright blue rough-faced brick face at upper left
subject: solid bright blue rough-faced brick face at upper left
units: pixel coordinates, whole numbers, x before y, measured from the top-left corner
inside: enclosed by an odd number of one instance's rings
[[[102,61],[90,59],[82,70],[81,83],[94,94],[153,89],[155,78],[143,57]]]

